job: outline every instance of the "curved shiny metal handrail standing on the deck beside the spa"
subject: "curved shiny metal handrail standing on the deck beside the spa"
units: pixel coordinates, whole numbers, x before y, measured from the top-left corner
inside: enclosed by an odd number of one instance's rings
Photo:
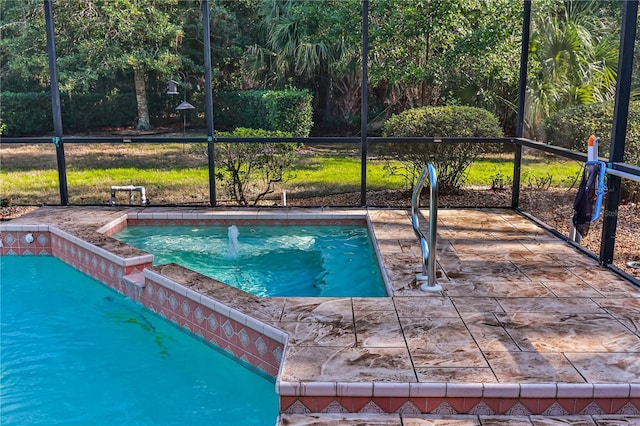
[[[420,193],[425,181],[429,178],[429,238],[427,239],[420,230],[418,213],[420,209]],[[436,169],[431,163],[422,169],[418,183],[413,188],[411,195],[411,224],[413,232],[418,237],[422,250],[422,273],[416,275],[416,281],[422,282],[420,289],[429,292],[438,292],[442,286],[436,284],[436,233],[438,223],[438,178]]]

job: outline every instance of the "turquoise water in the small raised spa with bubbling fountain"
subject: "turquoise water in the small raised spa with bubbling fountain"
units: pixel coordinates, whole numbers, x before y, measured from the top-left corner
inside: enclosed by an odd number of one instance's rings
[[[366,227],[130,226],[115,238],[256,296],[382,297]],[[237,244],[234,244],[237,242]]]

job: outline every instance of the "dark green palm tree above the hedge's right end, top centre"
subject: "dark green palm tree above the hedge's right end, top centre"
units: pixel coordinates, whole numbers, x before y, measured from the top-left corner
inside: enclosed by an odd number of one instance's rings
[[[323,119],[330,113],[332,95],[344,89],[341,79],[353,77],[349,71],[357,69],[360,49],[359,34],[352,31],[360,22],[360,2],[328,3],[264,0],[264,43],[251,46],[245,56],[253,85],[309,88]]]

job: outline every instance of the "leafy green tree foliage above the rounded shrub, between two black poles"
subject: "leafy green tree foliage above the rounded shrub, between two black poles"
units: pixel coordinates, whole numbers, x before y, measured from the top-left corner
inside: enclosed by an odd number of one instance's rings
[[[509,0],[373,1],[371,84],[389,112],[478,101],[513,111],[521,20]]]

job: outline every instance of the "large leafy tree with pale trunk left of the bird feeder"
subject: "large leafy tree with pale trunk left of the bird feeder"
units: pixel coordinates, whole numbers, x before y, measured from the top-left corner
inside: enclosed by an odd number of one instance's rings
[[[8,2],[3,13],[4,72],[12,80],[48,82],[41,2]],[[13,4],[16,3],[16,4]],[[150,72],[170,72],[183,57],[178,0],[58,0],[54,5],[60,86],[63,92],[89,92],[101,80],[132,78],[138,105],[138,128],[150,127],[146,82]],[[7,19],[5,23],[5,19]],[[3,34],[3,40],[5,34]],[[32,55],[24,55],[24,51]],[[34,77],[31,77],[34,76]]]

